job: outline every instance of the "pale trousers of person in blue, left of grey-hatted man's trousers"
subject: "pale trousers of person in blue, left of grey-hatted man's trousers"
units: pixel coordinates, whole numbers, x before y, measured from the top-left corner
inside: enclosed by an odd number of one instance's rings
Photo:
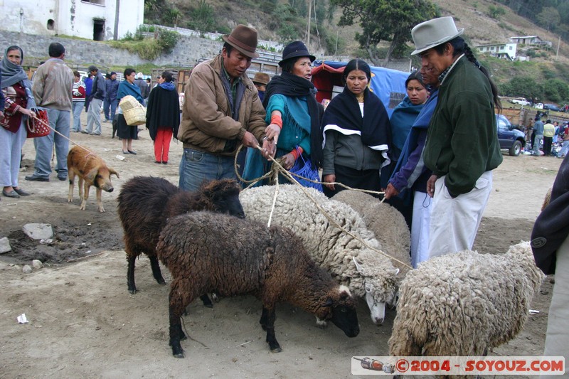
[[[417,268],[420,262],[429,259],[429,229],[432,198],[425,192],[413,193],[413,223],[411,224],[411,265]]]

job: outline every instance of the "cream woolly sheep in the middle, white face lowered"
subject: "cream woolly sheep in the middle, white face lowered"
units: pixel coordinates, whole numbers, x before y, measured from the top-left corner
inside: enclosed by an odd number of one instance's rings
[[[260,186],[240,193],[239,199],[248,219],[267,222],[275,188]],[[379,248],[373,233],[349,205],[329,200],[313,188],[305,189],[339,225],[361,237],[368,245]],[[372,321],[376,324],[383,322],[385,304],[395,301],[395,276],[398,273],[388,257],[336,228],[299,186],[279,186],[272,225],[292,229],[318,265],[348,286],[356,297],[366,298]]]

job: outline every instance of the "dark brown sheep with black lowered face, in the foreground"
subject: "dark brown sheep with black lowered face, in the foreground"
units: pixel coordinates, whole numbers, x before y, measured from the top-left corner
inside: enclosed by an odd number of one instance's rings
[[[260,324],[273,352],[281,351],[274,326],[275,305],[281,301],[331,321],[346,336],[359,333],[349,289],[314,264],[291,230],[193,212],[168,220],[156,250],[172,274],[170,345],[177,358],[184,357],[182,312],[200,294],[213,290],[223,297],[252,294],[262,301]]]

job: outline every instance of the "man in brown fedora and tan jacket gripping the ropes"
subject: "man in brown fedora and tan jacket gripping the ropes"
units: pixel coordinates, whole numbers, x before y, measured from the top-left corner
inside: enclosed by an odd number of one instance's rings
[[[252,58],[258,58],[257,31],[238,25],[222,37],[221,53],[193,68],[186,83],[186,102],[178,139],[184,144],[179,187],[196,191],[203,181],[235,178],[238,147],[263,147],[263,156],[275,154],[265,137],[265,109],[247,76]]]

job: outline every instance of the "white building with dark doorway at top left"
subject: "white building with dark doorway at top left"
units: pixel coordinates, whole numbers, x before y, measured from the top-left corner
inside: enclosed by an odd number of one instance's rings
[[[105,41],[134,34],[143,22],[144,0],[0,0],[6,31]]]

